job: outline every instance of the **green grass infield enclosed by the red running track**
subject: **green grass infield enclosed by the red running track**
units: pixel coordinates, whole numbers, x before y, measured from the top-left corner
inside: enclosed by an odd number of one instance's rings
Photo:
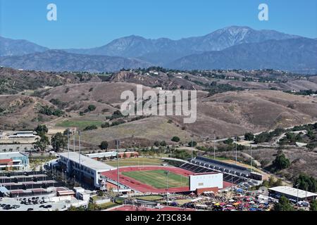
[[[136,179],[144,184],[153,186],[154,188],[166,188],[166,174],[165,170],[149,170],[149,171],[133,171],[123,172],[125,176]],[[174,174],[170,172],[168,175],[168,187],[178,188],[189,185],[189,179],[186,176]]]

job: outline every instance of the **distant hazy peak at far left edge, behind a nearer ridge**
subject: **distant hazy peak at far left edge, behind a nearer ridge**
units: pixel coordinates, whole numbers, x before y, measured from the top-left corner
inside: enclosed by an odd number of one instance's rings
[[[46,47],[30,41],[0,37],[0,56],[22,56],[29,53],[47,51]]]

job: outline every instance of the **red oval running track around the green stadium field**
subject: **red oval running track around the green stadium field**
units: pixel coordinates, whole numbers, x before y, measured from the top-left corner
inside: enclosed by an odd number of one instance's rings
[[[149,186],[147,184],[143,184],[140,181],[132,179],[128,176],[124,176],[121,172],[133,172],[133,171],[149,171],[149,170],[168,170],[169,172],[173,172],[174,174],[179,174],[182,176],[189,176],[194,174],[194,172],[190,172],[186,169],[181,169],[177,167],[158,167],[158,166],[144,166],[144,167],[121,167],[119,168],[119,181],[120,184],[124,184],[134,190],[140,191],[142,193],[166,193],[166,188],[154,188],[153,186]],[[102,175],[117,181],[117,170],[111,170],[108,172],[101,173]],[[189,186],[179,187],[179,188],[168,188],[169,193],[178,193],[189,191]]]

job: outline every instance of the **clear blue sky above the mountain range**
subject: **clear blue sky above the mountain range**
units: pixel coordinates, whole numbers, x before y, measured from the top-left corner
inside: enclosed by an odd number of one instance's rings
[[[46,20],[54,3],[58,20]],[[258,20],[258,6],[269,21]],[[317,0],[0,0],[0,35],[49,48],[89,48],[131,34],[201,36],[230,25],[317,37]]]

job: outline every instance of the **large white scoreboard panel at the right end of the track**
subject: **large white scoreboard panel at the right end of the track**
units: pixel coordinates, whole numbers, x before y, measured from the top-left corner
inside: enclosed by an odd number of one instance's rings
[[[189,176],[190,191],[197,188],[223,188],[223,174],[201,174]]]

